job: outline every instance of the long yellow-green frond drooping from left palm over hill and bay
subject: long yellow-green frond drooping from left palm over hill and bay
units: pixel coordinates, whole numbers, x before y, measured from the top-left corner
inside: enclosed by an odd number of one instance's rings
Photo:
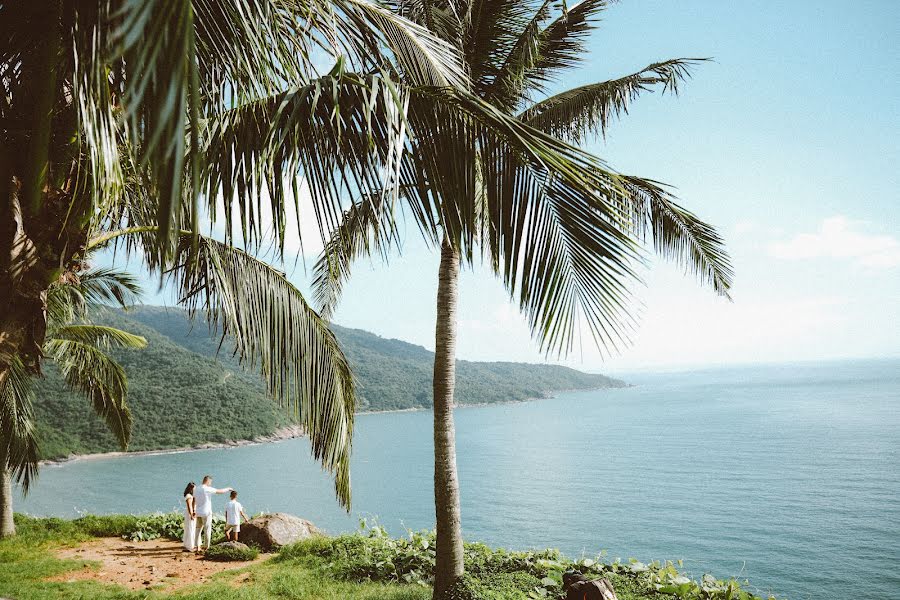
[[[241,363],[258,370],[268,393],[299,417],[313,456],[333,473],[338,500],[349,510],[356,396],[328,324],[283,273],[241,250],[202,236],[193,250],[183,236],[177,258],[168,276],[181,304],[232,341]]]

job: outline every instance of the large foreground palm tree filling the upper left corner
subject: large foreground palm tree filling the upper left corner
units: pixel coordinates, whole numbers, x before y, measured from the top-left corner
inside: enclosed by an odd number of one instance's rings
[[[502,150],[514,159],[485,177],[548,179],[570,198],[605,180],[470,87],[450,44],[367,0],[0,2],[0,384],[39,372],[60,274],[121,245],[299,415],[349,510],[350,370],[256,254],[272,243],[282,258],[301,178],[303,218],[326,232],[356,195],[393,201],[427,173],[422,226],[473,238],[479,207],[433,201],[473,197],[443,143]],[[224,240],[200,235],[205,218]]]

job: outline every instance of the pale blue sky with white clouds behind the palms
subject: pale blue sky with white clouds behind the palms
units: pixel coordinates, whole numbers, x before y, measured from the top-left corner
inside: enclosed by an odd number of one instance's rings
[[[615,373],[900,357],[898,22],[893,0],[612,5],[558,90],[667,58],[714,59],[678,96],[639,98],[586,148],[675,186],[682,205],[717,226],[736,271],[733,301],[651,261],[631,346],[610,356],[585,333],[575,352],[548,359],[501,283],[466,269],[459,358]],[[312,218],[301,218],[309,267],[321,248]],[[403,231],[389,265],[356,267],[335,322],[433,349],[438,255],[413,225]],[[303,259],[288,262],[308,291]],[[148,288],[146,303],[171,303]]]

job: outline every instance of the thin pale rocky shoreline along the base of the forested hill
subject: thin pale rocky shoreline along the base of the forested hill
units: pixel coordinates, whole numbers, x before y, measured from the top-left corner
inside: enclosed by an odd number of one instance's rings
[[[457,404],[454,408],[479,408],[485,406],[508,406],[511,404],[523,404],[525,402],[534,402],[537,400],[550,400],[555,398],[557,394],[565,394],[569,392],[596,392],[600,390],[619,390],[633,387],[630,384],[624,386],[612,386],[602,388],[588,389],[571,389],[571,390],[554,390],[548,392],[545,396],[538,398],[523,398],[522,400],[507,400],[506,402],[478,402],[473,404]],[[411,413],[423,412],[431,410],[428,407],[412,407],[412,408],[394,408],[389,410],[367,410],[356,413],[356,416],[362,415],[385,415],[391,413]],[[68,463],[85,461],[85,460],[102,460],[105,458],[121,458],[124,456],[159,456],[163,454],[181,454],[183,452],[195,452],[197,450],[220,450],[223,448],[239,448],[243,446],[257,446],[259,444],[269,444],[272,442],[281,442],[294,438],[303,437],[303,428],[300,425],[288,425],[280,429],[276,429],[269,435],[257,436],[251,440],[228,440],[225,442],[204,442],[194,446],[180,446],[178,448],[159,448],[157,450],[136,450],[134,452],[116,450],[113,452],[96,452],[92,454],[70,454],[64,458],[48,458],[38,462],[43,467],[62,466]]]

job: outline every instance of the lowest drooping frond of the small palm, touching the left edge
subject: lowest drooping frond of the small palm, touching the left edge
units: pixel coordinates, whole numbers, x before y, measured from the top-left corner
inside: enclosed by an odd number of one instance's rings
[[[32,375],[15,358],[0,379],[0,468],[8,467],[28,493],[38,473],[38,442],[34,431]]]

